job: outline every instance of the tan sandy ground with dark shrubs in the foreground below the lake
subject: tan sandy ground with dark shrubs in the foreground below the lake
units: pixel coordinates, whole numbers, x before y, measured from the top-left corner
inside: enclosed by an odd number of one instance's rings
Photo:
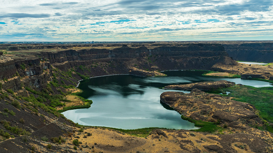
[[[87,133],[92,135],[87,136]],[[72,137],[67,136],[66,139],[63,148],[75,151],[73,140],[78,139],[81,144],[77,152],[83,153],[220,153],[223,148],[219,143],[222,138],[218,135],[189,130],[157,129],[147,138],[142,138],[107,128],[87,128],[83,132],[72,133]],[[237,153],[253,153],[245,143],[233,143],[231,148]],[[245,147],[240,149],[235,144]],[[213,147],[218,150],[213,151]]]

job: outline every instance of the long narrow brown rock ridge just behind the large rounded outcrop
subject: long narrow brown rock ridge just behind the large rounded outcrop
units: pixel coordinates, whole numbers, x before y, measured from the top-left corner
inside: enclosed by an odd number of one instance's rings
[[[221,80],[221,81],[215,81],[215,82],[198,82],[198,83],[191,83],[186,85],[168,85],[168,86],[165,86],[164,89],[178,89],[178,90],[187,90],[187,91],[198,89],[198,90],[210,91],[210,90],[216,90],[219,88],[228,88],[232,86],[235,86],[234,82]]]

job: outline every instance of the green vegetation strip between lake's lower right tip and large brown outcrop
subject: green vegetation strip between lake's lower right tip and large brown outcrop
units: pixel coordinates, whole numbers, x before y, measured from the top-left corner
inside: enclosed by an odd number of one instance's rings
[[[181,116],[183,120],[187,120],[189,122],[195,123],[195,126],[201,127],[199,129],[195,129],[193,131],[197,132],[208,132],[208,133],[215,133],[217,130],[221,129],[221,127],[218,127],[216,123],[213,122],[204,122],[204,121],[196,121],[191,118],[187,118],[185,116]]]

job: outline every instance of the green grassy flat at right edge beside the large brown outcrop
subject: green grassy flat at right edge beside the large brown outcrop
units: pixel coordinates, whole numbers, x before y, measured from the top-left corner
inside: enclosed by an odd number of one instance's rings
[[[273,122],[273,88],[255,88],[251,86],[234,86],[225,88],[224,91],[231,92],[229,95],[233,100],[247,102],[254,105],[259,111],[260,116]]]

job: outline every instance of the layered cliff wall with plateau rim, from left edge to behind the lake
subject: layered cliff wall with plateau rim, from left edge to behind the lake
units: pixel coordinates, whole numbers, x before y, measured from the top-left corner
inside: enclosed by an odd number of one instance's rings
[[[9,52],[0,57],[0,79],[4,80],[4,89],[17,91],[21,86],[31,86],[41,90],[47,81],[52,81],[52,67],[61,71],[77,67],[77,74],[88,77],[138,75],[135,69],[146,71],[139,75],[153,76],[156,71],[168,69],[209,70],[216,63],[236,64],[220,44],[54,45],[52,50],[50,46],[44,47],[46,50],[40,45],[7,47]]]

